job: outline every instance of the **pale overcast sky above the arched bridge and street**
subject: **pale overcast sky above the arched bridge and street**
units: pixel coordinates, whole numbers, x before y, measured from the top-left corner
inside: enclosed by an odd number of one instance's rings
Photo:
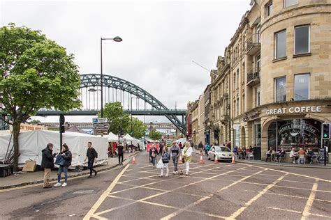
[[[103,73],[133,82],[169,109],[175,102],[186,109],[209,83],[207,70],[192,61],[216,68],[249,2],[0,0],[0,24],[43,31],[75,54],[81,74],[100,72],[101,37],[120,36],[122,42],[103,42]]]

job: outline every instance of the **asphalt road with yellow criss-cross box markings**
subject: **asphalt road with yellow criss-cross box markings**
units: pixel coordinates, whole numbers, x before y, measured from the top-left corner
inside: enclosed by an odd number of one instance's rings
[[[159,178],[145,152],[136,159],[68,187],[0,191],[1,219],[331,219],[330,169],[198,164],[194,155],[189,176]]]

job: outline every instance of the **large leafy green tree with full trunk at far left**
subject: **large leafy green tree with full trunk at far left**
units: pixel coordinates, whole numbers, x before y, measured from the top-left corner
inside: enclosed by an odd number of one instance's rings
[[[18,168],[20,124],[41,108],[81,107],[80,74],[73,54],[41,31],[8,24],[0,28],[0,107],[13,125],[14,170]]]

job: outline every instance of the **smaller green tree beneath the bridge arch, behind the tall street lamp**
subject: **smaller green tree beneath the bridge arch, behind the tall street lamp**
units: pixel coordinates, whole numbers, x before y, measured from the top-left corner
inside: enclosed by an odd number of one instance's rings
[[[103,116],[110,120],[109,132],[118,134],[119,126],[122,127],[124,131],[128,130],[131,121],[130,115],[124,113],[121,102],[106,103],[103,108]]]

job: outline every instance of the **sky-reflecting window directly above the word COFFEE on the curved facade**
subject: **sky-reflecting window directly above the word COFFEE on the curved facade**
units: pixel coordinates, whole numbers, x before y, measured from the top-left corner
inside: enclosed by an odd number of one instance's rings
[[[294,75],[294,100],[309,100],[309,73]]]

